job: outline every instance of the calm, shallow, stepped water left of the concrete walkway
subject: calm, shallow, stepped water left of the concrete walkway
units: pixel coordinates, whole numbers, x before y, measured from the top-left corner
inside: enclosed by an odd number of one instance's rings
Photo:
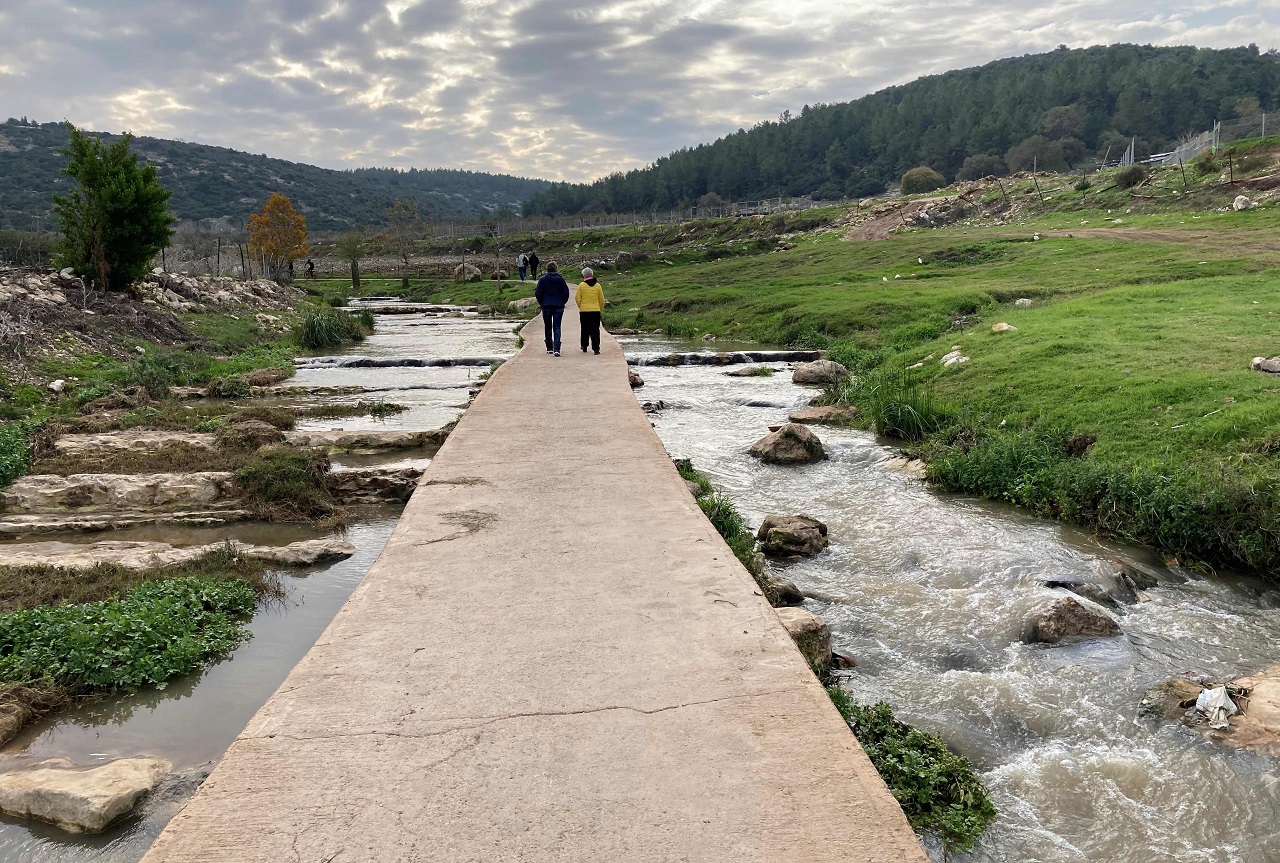
[[[362,356],[502,356],[516,350],[511,321],[440,319],[428,315],[380,316],[378,330],[349,353]],[[374,392],[339,397],[280,399],[280,403],[320,405],[334,401],[383,399],[410,410],[387,420],[347,417],[312,420],[301,429],[434,429],[456,420],[466,407],[468,389],[484,367],[444,369],[305,369],[298,385],[357,385]],[[430,451],[334,458],[338,469],[365,465],[429,464]],[[141,813],[101,836],[74,836],[52,827],[0,817],[0,863],[141,859],[200,777],[221,758],[227,746],[311,648],[381,552],[399,517],[399,507],[366,507],[352,513],[342,538],[353,543],[355,557],[283,574],[288,597],[253,617],[252,638],[198,673],[170,681],[163,690],[143,690],[104,698],[67,711],[27,729],[4,748],[0,770],[28,766],[45,758],[68,758],[93,764],[119,757],[161,755],[174,763],[177,778],[163,786]],[[50,549],[101,539],[168,542],[197,545],[225,539],[255,544],[287,544],[326,534],[305,525],[236,524],[220,528],[150,526],[104,534],[41,538]],[[0,543],[0,557],[4,544]]]

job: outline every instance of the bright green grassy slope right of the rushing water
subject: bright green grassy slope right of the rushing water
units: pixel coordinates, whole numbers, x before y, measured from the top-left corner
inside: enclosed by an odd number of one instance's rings
[[[934,456],[954,467],[974,437],[1051,425],[1097,443],[1074,465],[1025,451],[1043,440],[1020,443],[968,472],[948,470],[946,485],[1184,558],[1274,566],[1280,380],[1248,366],[1280,353],[1280,211],[1222,211],[1235,190],[1215,188],[1217,175],[1196,174],[1174,196],[1175,170],[1139,192],[1158,200],[1098,182],[1051,190],[1047,204],[1018,207],[1004,224],[973,219],[878,242],[828,230],[794,238],[790,250],[710,261],[676,250],[667,255],[675,266],[652,260],[602,274],[605,323],[845,353],[851,343],[867,366],[884,369],[960,344],[969,364],[913,373],[966,426],[959,442],[954,428],[925,442]],[[1030,186],[1006,181],[1015,201],[1034,195]],[[527,293],[477,283],[440,286],[436,296]],[[1019,297],[1036,305],[1016,309]],[[1018,332],[993,334],[997,321]],[[1082,480],[1076,465],[1093,474]],[[1172,490],[1156,501],[1153,489]],[[1108,520],[1102,508],[1121,515]]]

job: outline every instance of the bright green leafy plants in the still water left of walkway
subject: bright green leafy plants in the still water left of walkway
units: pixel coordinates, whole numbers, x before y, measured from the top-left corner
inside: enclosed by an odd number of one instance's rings
[[[148,581],[123,599],[0,615],[0,681],[78,691],[161,686],[246,638],[242,580]]]

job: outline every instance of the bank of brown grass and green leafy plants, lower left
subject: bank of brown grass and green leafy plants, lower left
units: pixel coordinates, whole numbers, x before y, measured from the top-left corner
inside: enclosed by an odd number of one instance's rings
[[[261,565],[219,551],[182,566],[0,566],[0,741],[73,699],[164,686],[247,638]],[[110,663],[104,663],[110,657]]]

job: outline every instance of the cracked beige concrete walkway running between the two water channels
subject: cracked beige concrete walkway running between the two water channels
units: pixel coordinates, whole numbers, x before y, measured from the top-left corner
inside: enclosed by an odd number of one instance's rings
[[[145,863],[924,854],[602,356],[541,321]]]

